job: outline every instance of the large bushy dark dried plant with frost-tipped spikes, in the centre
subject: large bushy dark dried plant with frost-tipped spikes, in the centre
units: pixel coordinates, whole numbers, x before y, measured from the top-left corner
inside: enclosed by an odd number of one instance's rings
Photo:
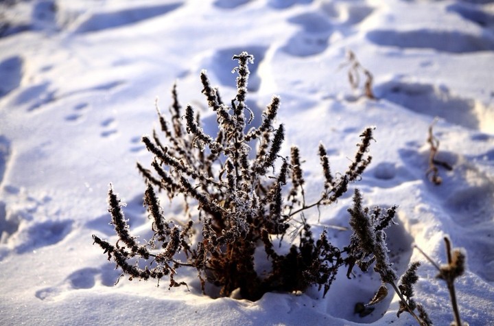
[[[369,253],[361,251],[361,246],[357,248],[356,240],[340,249],[329,242],[327,231],[315,236],[304,212],[336,202],[349,183],[360,178],[371,162],[367,152],[373,129],[362,132],[355,159],[343,174],[331,172],[327,152],[319,145],[323,188],[320,198],[306,202],[298,148],[292,147],[290,156],[280,154],[285,129],[274,124],[279,97],[272,97],[261,125],[248,128],[253,117],[246,105],[248,64],[253,57],[243,52],[233,59],[239,62],[234,69],[238,74],[237,95],[229,105],[211,86],[205,71],[200,74],[202,93],[216,114],[215,137],[204,132],[192,106],[183,112],[174,86],[170,117],[158,110],[165,141],[156,131],[142,139],[154,156],[151,169],[137,164],[147,183],[144,200],[153,221],[152,239],[140,244],[130,235],[119,199],[110,187],[109,211],[119,240],[113,245],[93,235],[94,242],[130,279],[169,277],[170,287],[182,286],[184,282],[174,280],[176,270],[189,267],[198,271],[203,292],[208,282],[220,288],[220,296],[237,293],[254,301],[266,292],[298,292],[311,285],[323,288],[326,294],[340,266],[357,264],[362,268],[371,264],[364,261]],[[170,199],[183,196],[189,222],[167,219],[156,189]],[[379,222],[372,235],[374,242],[384,242],[382,229],[389,221]],[[352,227],[360,230],[360,226]],[[195,230],[200,233],[194,234]],[[283,253],[277,247],[287,234],[298,235],[298,241]],[[266,271],[256,269],[255,253],[259,250],[270,263]],[[386,277],[394,279],[388,262],[375,256],[377,264],[389,270]]]

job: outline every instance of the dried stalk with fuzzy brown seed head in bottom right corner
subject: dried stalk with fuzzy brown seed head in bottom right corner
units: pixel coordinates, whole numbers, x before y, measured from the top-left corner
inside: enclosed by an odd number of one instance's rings
[[[467,261],[467,255],[462,248],[451,249],[451,240],[449,237],[444,237],[447,264],[439,265],[434,260],[432,260],[429,255],[427,255],[419,246],[414,246],[417,248],[425,258],[438,270],[438,279],[443,279],[449,291],[449,299],[451,300],[451,307],[453,308],[454,323],[452,326],[462,326],[468,325],[468,323],[461,322],[460,310],[458,309],[458,301],[456,300],[456,290],[454,287],[454,281],[456,278],[462,276],[465,271],[465,265]]]

